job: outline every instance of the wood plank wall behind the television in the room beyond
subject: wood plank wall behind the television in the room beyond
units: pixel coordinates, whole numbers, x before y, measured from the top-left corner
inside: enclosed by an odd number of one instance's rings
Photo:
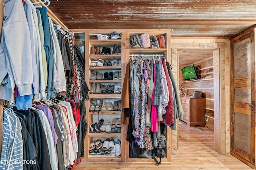
[[[198,80],[184,80],[181,70],[179,75],[183,87],[188,89],[188,95],[193,96],[193,91],[202,92],[202,97],[205,98],[205,118],[206,127],[214,129],[214,88],[213,88],[213,57],[206,60],[194,63],[195,68],[200,66],[198,70]]]

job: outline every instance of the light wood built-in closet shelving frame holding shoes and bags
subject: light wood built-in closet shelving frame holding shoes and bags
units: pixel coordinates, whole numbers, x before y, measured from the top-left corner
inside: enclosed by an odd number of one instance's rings
[[[171,61],[171,50],[170,50],[170,32],[169,29],[164,30],[146,30],[146,29],[136,29],[136,30],[124,30],[124,29],[116,29],[116,30],[108,30],[108,29],[96,29],[96,30],[88,30],[88,29],[74,29],[71,30],[75,33],[75,41],[80,42],[83,40],[85,43],[84,51],[85,51],[85,81],[89,87],[91,88],[92,83],[100,83],[100,84],[115,84],[118,86],[123,85],[123,78],[126,72],[126,65],[129,63],[130,55],[132,54],[164,54],[166,55],[166,59]],[[90,39],[90,34],[102,34],[102,35],[110,35],[112,32],[121,33],[121,39],[106,39],[106,40],[97,40]],[[130,36],[135,34],[142,34],[148,32],[150,34],[150,38],[155,35],[166,35],[166,49],[130,49]],[[111,48],[113,45],[121,46],[122,52],[118,55],[94,55],[90,54],[91,47],[100,46],[100,52],[102,47]],[[168,48],[169,47],[169,48]],[[113,61],[113,59],[118,59],[122,61],[122,66],[90,66],[90,63],[94,59],[102,59],[104,61]],[[98,72],[110,72],[113,73],[115,71],[121,71],[122,80],[90,80],[92,71]],[[121,94],[89,94],[89,100],[85,101],[86,106],[86,122],[88,123],[88,129],[86,132],[86,137],[84,139],[84,160],[82,162],[152,162],[154,160],[151,158],[129,158],[129,143],[126,141],[127,135],[127,124],[121,125],[121,133],[90,133],[90,125],[94,122],[97,122],[99,119],[104,119],[104,123],[111,123],[111,120],[114,118],[121,118],[121,111],[89,111],[90,102],[93,100],[103,100],[107,101],[117,101],[121,100]],[[105,122],[106,119],[106,122]],[[115,141],[119,140],[121,143],[121,156],[110,156],[110,155],[90,155],[89,147],[90,143],[96,141],[97,139],[101,139],[102,142],[106,138],[113,138]],[[167,128],[167,158],[162,158],[162,162],[170,162],[170,156],[172,151],[172,131],[170,128]]]

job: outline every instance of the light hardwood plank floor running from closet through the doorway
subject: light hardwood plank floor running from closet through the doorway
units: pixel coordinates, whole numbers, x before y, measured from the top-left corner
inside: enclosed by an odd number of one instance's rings
[[[75,170],[251,170],[249,166],[230,154],[221,155],[214,149],[214,133],[207,127],[188,127],[179,124],[178,154],[171,156],[171,164],[153,163],[81,163]]]

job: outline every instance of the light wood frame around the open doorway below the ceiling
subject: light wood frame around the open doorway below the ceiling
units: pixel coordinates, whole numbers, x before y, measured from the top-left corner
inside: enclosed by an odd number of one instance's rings
[[[176,66],[174,68],[176,75],[179,75],[179,56],[177,49],[212,49],[214,67],[214,150],[220,154],[226,154],[225,56],[228,56],[226,43],[171,43],[171,47],[172,64]],[[176,80],[179,80],[178,76]],[[173,148],[178,148],[178,140],[173,140],[172,143]]]

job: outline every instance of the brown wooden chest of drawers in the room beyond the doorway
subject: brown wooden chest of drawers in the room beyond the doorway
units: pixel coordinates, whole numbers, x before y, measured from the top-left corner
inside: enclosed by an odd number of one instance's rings
[[[184,111],[183,119],[189,126],[205,126],[205,98],[180,97]]]

